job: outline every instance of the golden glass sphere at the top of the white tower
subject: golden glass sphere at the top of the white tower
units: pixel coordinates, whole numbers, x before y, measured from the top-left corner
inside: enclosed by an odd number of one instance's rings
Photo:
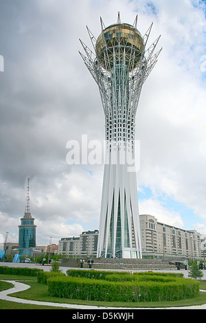
[[[111,71],[114,65],[124,64],[132,71],[144,54],[144,40],[132,25],[117,23],[102,31],[95,45],[95,52],[104,69]]]

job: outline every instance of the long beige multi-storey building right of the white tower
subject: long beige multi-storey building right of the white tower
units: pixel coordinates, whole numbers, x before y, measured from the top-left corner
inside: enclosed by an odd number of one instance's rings
[[[155,216],[141,214],[141,245],[144,258],[165,260],[201,258],[201,234],[157,221]]]

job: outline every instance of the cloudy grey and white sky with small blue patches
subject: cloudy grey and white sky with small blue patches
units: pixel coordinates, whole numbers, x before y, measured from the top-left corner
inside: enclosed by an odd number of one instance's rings
[[[104,140],[98,87],[78,54],[138,14],[163,51],[141,91],[139,211],[206,234],[206,3],[0,0],[0,242],[18,242],[27,177],[36,243],[98,229],[103,165],[68,165],[69,140]]]

